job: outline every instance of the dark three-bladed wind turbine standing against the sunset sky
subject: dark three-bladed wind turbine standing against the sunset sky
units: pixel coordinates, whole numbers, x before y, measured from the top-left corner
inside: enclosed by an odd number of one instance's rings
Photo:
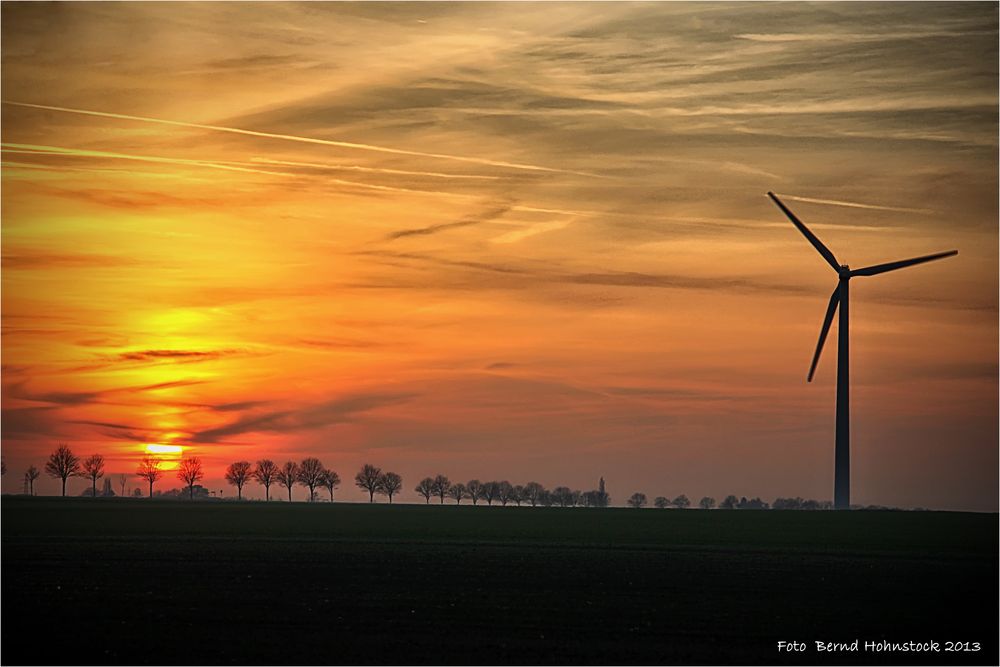
[[[850,358],[849,358],[849,329],[848,317],[850,313],[848,303],[848,286],[851,278],[860,276],[877,276],[880,273],[904,269],[915,264],[932,262],[935,259],[944,259],[957,255],[957,250],[939,252],[923,257],[912,259],[902,259],[898,262],[888,262],[886,264],[875,264],[866,266],[863,269],[851,269],[847,264],[838,264],[830,249],[816,238],[816,235],[809,231],[809,228],[802,224],[802,221],[795,217],[795,214],[788,210],[780,199],[773,192],[768,192],[767,196],[774,200],[788,219],[792,221],[802,235],[813,245],[823,256],[823,259],[833,267],[833,270],[840,276],[837,287],[830,295],[830,304],[826,308],[826,317],[823,318],[823,328],[819,332],[819,342],[816,344],[816,353],[813,355],[812,365],[809,366],[808,382],[812,382],[813,373],[816,372],[816,364],[819,363],[819,354],[823,351],[823,343],[826,342],[826,334],[830,331],[830,324],[833,322],[833,315],[840,307],[840,318],[838,320],[837,331],[837,444],[834,452],[834,472],[833,472],[833,507],[838,510],[846,510],[851,506],[851,409],[850,409]]]

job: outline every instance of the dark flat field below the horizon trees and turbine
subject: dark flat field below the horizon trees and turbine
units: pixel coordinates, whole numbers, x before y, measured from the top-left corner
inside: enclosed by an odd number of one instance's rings
[[[0,650],[4,664],[997,664],[997,526],[7,497]],[[780,654],[782,639],[808,649]],[[814,643],[854,639],[941,650]]]

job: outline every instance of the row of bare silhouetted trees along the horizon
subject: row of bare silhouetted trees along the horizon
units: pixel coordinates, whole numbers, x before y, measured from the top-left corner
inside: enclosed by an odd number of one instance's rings
[[[149,497],[153,497],[153,486],[161,480],[166,471],[162,468],[163,461],[159,457],[147,455],[139,462],[136,469],[136,476],[149,485]],[[93,454],[86,458],[76,456],[65,444],[59,445],[56,450],[49,455],[45,463],[45,473],[62,483],[62,495],[66,495],[66,482],[71,477],[83,477],[91,482],[91,487],[87,489],[85,495],[97,496],[97,481],[104,477],[105,462],[100,454]],[[6,464],[3,465],[3,472],[6,474]],[[34,466],[30,466],[24,473],[25,486],[29,493],[34,495],[34,483],[41,476],[41,472]],[[204,492],[198,482],[204,479],[204,467],[201,459],[196,456],[182,458],[177,467],[177,479],[184,483],[188,497],[193,499],[196,487]],[[236,497],[242,500],[243,488],[250,482],[256,482],[264,487],[265,500],[271,499],[271,487],[283,487],[288,494],[288,500],[292,500],[292,490],[296,486],[305,487],[308,490],[308,500],[317,499],[317,494],[329,493],[330,501],[334,500],[334,492],[340,486],[340,475],[323,465],[315,457],[305,458],[302,461],[286,461],[278,465],[271,459],[261,459],[255,463],[250,461],[235,461],[226,468],[226,481],[236,487]],[[119,476],[122,495],[125,492],[126,477]],[[375,496],[385,496],[391,503],[394,496],[403,489],[403,478],[401,475],[391,471],[383,471],[381,468],[365,464],[354,476],[354,484],[358,488],[368,493],[369,502],[375,502]],[[111,490],[109,480],[105,480],[104,492],[102,495],[114,495]],[[538,482],[528,482],[527,484],[511,484],[509,481],[488,481],[481,482],[472,479],[468,482],[452,482],[445,475],[434,477],[424,477],[413,489],[419,496],[424,498],[424,502],[429,504],[432,499],[444,504],[446,499],[453,500],[456,505],[460,505],[463,500],[468,500],[473,505],[483,502],[487,505],[498,505],[506,507],[513,504],[517,506],[530,505],[531,507],[608,507],[611,504],[611,497],[604,491],[604,480],[601,480],[600,488],[590,491],[573,490],[566,486],[557,486],[553,489],[546,489]],[[138,489],[136,489],[138,492]],[[160,493],[157,491],[157,493]],[[634,493],[626,500],[628,507],[641,509],[648,505],[648,498],[645,493]],[[657,509],[688,509],[691,501],[684,494],[674,499],[666,496],[657,496],[653,500],[653,506]],[[698,507],[703,510],[715,509],[773,509],[776,510],[823,510],[832,509],[829,501],[803,500],[802,498],[777,498],[773,506],[768,505],[760,498],[747,499],[737,498],[734,495],[726,496],[721,503],[716,503],[715,498],[705,496],[698,501]]]

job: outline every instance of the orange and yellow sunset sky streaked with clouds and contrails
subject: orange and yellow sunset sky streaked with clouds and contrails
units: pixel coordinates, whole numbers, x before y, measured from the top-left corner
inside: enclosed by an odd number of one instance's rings
[[[2,14],[4,492],[67,443],[831,499],[773,190],[853,267],[959,250],[852,281],[852,501],[997,510],[994,3]]]

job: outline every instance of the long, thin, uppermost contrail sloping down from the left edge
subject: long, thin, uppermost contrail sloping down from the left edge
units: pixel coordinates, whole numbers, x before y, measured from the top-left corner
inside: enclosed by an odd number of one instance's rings
[[[505,169],[522,169],[525,171],[541,171],[559,174],[574,174],[576,176],[587,176],[589,178],[605,178],[599,174],[590,174],[584,171],[572,171],[569,169],[555,169],[553,167],[541,167],[534,164],[523,164],[519,162],[503,162],[500,160],[490,160],[487,158],[462,157],[459,155],[445,155],[443,153],[424,153],[421,151],[408,151],[401,148],[388,148],[386,146],[375,146],[373,144],[358,144],[349,141],[334,141],[331,139],[315,139],[312,137],[300,137],[293,134],[277,134],[274,132],[258,132],[256,130],[244,130],[236,127],[223,127],[221,125],[204,125],[201,123],[186,123],[179,120],[166,120],[163,118],[149,118],[147,116],[130,116],[128,114],[109,113],[107,111],[89,111],[87,109],[71,109],[68,107],[56,107],[46,104],[30,104],[28,102],[14,102],[2,100],[3,104],[11,106],[25,107],[28,109],[44,109],[46,111],[60,111],[63,113],[82,114],[84,116],[98,116],[101,118],[117,118],[119,120],[132,120],[142,123],[158,123],[160,125],[172,125],[174,127],[190,127],[199,130],[213,130],[215,132],[229,132],[231,134],[244,134],[251,137],[264,137],[266,139],[282,139],[284,141],[298,141],[306,144],[319,144],[321,146],[337,146],[339,148],[353,148],[364,151],[375,151],[379,153],[391,153],[393,155],[412,155],[416,157],[429,157],[439,160],[454,160],[456,162],[468,162],[470,164],[481,164],[490,167],[503,167]]]

